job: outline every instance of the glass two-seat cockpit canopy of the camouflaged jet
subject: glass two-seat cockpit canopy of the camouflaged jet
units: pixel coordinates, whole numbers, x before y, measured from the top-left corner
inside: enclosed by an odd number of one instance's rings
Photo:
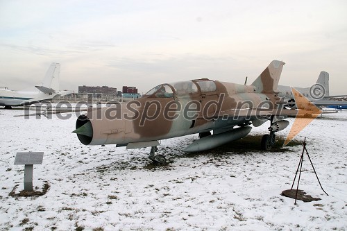
[[[216,90],[217,87],[213,80],[201,79],[161,84],[152,88],[144,96],[151,98],[171,98],[174,96],[180,97],[188,96],[189,94],[215,92]]]

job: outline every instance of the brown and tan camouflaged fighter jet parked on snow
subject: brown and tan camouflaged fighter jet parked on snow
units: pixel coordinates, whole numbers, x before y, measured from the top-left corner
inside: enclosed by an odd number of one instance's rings
[[[252,85],[206,78],[158,85],[135,101],[79,116],[74,132],[85,145],[151,147],[149,158],[164,164],[165,158],[155,155],[161,139],[198,133],[200,139],[183,151],[205,151],[241,139],[251,125],[270,120],[269,134],[262,137],[262,148],[269,150],[275,133],[289,124],[281,117],[296,114],[283,109],[287,102],[276,93],[283,65],[273,60]]]

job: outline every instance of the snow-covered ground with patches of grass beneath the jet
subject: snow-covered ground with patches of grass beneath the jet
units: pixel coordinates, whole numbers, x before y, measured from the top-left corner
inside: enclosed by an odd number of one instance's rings
[[[302,146],[264,152],[246,139],[215,151],[181,150],[197,135],[162,141],[167,166],[154,167],[149,148],[84,146],[68,120],[13,117],[0,110],[0,230],[347,230],[347,112],[315,119],[297,137],[307,150],[300,189],[322,200],[303,203],[280,196],[291,182]],[[291,123],[294,119],[289,119]],[[267,132],[268,124],[250,137]],[[285,137],[289,128],[279,132]],[[43,151],[34,166],[34,187],[49,182],[44,196],[9,196],[21,191],[24,166],[15,154]]]

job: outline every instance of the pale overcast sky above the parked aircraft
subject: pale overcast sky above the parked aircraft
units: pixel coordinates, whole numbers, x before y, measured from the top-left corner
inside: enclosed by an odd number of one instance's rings
[[[281,85],[330,74],[347,94],[347,1],[0,0],[0,86],[40,83],[60,62],[60,89],[211,78],[248,83],[271,60]]]

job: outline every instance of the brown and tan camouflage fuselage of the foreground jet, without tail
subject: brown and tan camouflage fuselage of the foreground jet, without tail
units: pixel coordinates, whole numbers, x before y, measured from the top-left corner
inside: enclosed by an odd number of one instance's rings
[[[198,81],[198,82],[197,82]],[[168,139],[194,133],[244,126],[245,117],[219,118],[222,112],[257,107],[265,101],[278,101],[273,94],[255,92],[255,87],[211,80],[190,83],[214,83],[210,92],[176,94],[160,98],[155,94],[136,101],[88,112],[78,119],[76,128],[91,123],[92,133],[78,135],[83,144],[128,144]],[[197,85],[198,86],[198,85]],[[266,105],[265,105],[266,106]],[[90,131],[91,132],[91,131]]]

